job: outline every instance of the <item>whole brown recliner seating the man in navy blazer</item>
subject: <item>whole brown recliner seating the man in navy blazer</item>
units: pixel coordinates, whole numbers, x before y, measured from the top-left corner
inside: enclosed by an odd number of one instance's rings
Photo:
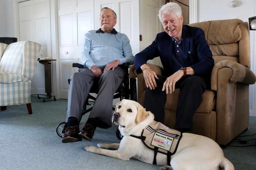
[[[239,19],[206,21],[190,26],[204,30],[215,61],[211,89],[204,92],[203,101],[193,115],[192,133],[226,145],[249,125],[249,84],[256,80],[250,70],[249,26]],[[148,65],[161,75],[163,68]],[[132,77],[138,77],[138,102],[143,105],[145,82],[143,74],[138,75],[134,65],[130,68]],[[170,128],[175,125],[178,96],[179,89],[167,95],[164,123]]]

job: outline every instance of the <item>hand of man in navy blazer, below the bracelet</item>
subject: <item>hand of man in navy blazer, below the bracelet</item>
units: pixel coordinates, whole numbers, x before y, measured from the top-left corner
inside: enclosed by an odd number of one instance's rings
[[[151,90],[156,88],[155,78],[159,78],[153,70],[151,70],[149,67],[143,69],[143,77],[147,88],[149,87]]]

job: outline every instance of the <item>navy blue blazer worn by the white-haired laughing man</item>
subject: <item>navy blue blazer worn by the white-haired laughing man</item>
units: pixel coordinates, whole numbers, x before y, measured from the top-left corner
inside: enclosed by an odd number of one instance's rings
[[[196,76],[210,79],[214,66],[213,54],[205,40],[204,31],[201,28],[183,25],[182,27],[183,67],[192,67]],[[160,57],[166,77],[178,71],[180,67],[174,67],[173,41],[166,32],[156,35],[155,41],[147,48],[135,55],[134,64],[137,73],[142,73],[140,66],[155,57]],[[175,69],[174,69],[175,68]],[[207,81],[207,80],[206,80]]]

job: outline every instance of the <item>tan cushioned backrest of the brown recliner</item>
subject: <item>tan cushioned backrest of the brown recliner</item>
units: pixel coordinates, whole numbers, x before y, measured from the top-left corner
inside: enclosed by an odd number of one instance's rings
[[[215,64],[232,60],[250,68],[248,23],[240,19],[214,20],[190,24],[204,30]]]

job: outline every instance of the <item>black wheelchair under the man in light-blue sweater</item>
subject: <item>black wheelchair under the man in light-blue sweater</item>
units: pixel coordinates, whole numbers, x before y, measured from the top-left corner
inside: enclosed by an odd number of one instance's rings
[[[124,67],[125,69],[127,69],[127,72],[126,72],[126,75],[125,75],[123,81],[121,82],[121,84],[119,85],[118,89],[115,92],[116,94],[114,95],[114,99],[120,98],[120,101],[123,99],[130,99],[130,100],[138,101],[136,78],[129,78],[128,69],[130,67],[130,64],[124,63],[121,66]],[[79,64],[79,63],[73,63],[72,67],[77,67],[77,68],[79,68],[78,71],[81,71],[81,69],[84,67],[84,65]],[[84,107],[82,109],[82,116],[85,115],[86,113],[90,112],[93,109],[92,107],[89,109],[86,109],[86,107],[91,105],[91,104],[89,104],[89,99],[91,99],[93,101],[96,100],[96,98],[93,97],[90,93],[96,93],[96,94],[98,93],[98,91],[99,91],[98,81],[99,81],[99,79],[96,79],[93,81],[93,86],[89,91],[88,97],[87,97]],[[68,79],[68,84],[70,84],[70,79]],[[115,108],[112,107],[112,110],[114,111]],[[64,135],[66,127],[67,127],[66,122],[61,122],[56,128],[57,135],[62,137]],[[118,128],[116,130],[116,136],[119,140],[122,139],[122,135],[120,134]]]

